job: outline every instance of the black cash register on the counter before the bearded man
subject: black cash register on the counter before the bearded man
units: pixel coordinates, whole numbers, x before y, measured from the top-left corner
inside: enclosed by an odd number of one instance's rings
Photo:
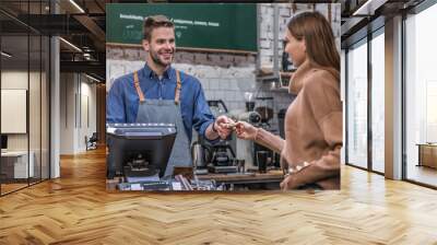
[[[119,189],[162,190],[163,180],[176,139],[174,124],[108,124],[107,178],[120,177]]]

